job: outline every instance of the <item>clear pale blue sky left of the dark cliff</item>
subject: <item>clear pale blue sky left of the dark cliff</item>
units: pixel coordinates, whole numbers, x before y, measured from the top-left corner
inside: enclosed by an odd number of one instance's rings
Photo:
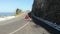
[[[21,10],[31,10],[33,0],[0,0],[1,12],[15,12],[17,8]]]

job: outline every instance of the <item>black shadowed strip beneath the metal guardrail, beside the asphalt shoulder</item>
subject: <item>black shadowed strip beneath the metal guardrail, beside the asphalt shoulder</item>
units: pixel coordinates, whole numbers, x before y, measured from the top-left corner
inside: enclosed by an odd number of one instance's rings
[[[60,34],[60,31],[57,31],[56,29],[50,27],[49,25],[43,23],[40,20],[36,20],[35,18],[33,19],[34,23],[43,27],[45,30],[47,30],[50,34]]]

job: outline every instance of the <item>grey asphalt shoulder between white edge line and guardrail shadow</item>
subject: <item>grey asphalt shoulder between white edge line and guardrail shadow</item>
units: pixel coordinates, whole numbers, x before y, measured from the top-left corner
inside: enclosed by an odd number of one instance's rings
[[[50,34],[43,27],[30,22],[21,30],[15,32],[14,34]]]

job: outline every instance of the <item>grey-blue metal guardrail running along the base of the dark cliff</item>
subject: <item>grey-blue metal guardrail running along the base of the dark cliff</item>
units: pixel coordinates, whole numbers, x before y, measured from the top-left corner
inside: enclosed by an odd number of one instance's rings
[[[55,24],[55,23],[53,23],[53,22],[50,22],[50,21],[48,21],[48,20],[44,20],[44,19],[42,19],[42,18],[36,17],[33,13],[31,13],[31,14],[32,14],[32,16],[33,16],[34,18],[36,18],[36,19],[38,19],[38,20],[46,23],[47,25],[53,27],[54,29],[57,29],[58,31],[60,31],[60,25],[57,25],[57,24]]]

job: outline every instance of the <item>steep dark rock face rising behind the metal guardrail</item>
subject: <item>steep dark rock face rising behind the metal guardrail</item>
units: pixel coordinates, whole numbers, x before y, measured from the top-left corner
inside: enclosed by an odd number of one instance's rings
[[[32,12],[37,17],[60,24],[60,0],[34,0]]]

